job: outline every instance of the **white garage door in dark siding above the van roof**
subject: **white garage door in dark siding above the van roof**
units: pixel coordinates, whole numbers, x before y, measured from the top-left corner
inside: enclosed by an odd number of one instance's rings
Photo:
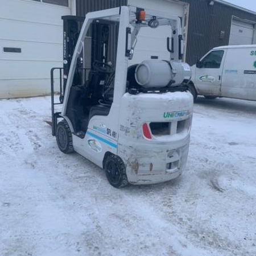
[[[254,35],[254,24],[233,19],[230,29],[229,44],[252,44]]]

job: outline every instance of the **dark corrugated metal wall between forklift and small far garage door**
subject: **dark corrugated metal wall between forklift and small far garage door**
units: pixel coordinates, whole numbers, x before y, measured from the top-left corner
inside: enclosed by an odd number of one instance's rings
[[[195,64],[210,49],[229,44],[232,16],[256,22],[256,15],[236,9],[232,6],[214,2],[210,6],[208,0],[179,0],[189,3],[187,59]],[[224,31],[224,38],[220,32]]]

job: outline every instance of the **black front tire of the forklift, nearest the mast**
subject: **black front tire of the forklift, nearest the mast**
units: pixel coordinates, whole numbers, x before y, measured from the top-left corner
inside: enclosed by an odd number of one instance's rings
[[[72,133],[68,126],[68,123],[64,121],[60,121],[57,124],[56,129],[56,141],[57,145],[65,154],[74,152],[73,142],[72,142]]]

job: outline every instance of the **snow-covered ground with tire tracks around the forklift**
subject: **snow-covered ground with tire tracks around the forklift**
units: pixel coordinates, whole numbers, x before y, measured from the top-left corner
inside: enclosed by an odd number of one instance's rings
[[[256,255],[256,102],[199,98],[184,174],[123,189],[60,152],[49,97],[0,106],[0,255]]]

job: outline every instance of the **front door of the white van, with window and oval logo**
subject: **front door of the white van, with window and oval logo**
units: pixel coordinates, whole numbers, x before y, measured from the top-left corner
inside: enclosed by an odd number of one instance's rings
[[[221,96],[224,50],[210,51],[197,63],[196,89],[202,95]]]

